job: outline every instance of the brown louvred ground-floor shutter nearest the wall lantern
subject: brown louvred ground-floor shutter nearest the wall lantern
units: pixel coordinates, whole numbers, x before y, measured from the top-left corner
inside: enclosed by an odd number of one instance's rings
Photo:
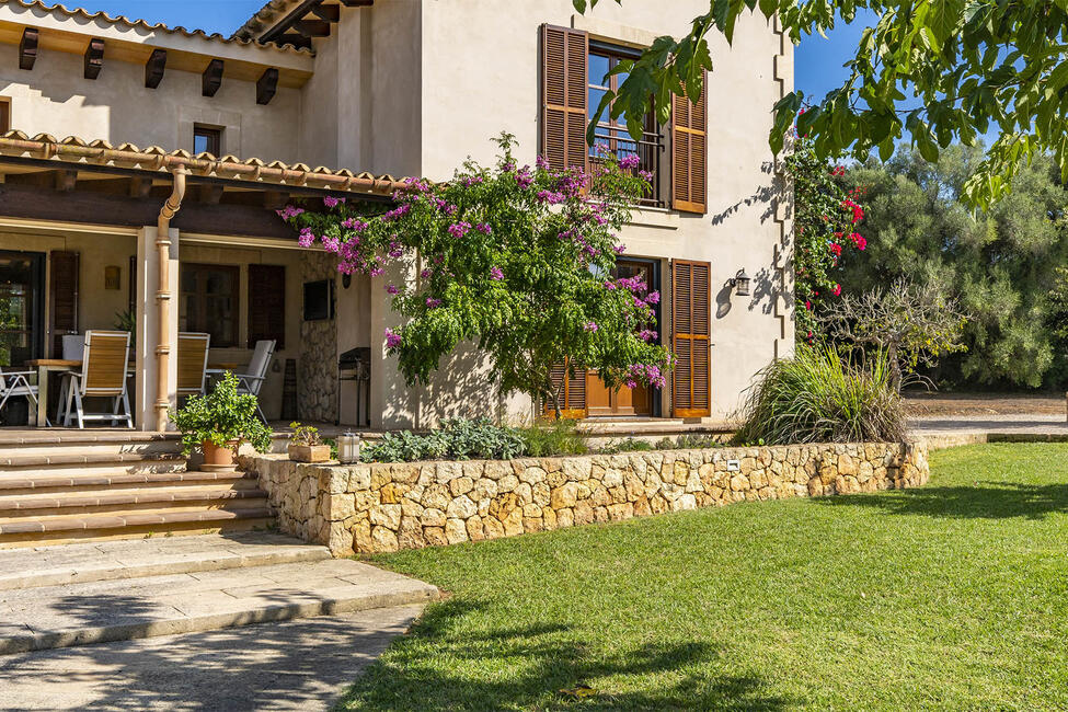
[[[671,265],[673,343],[678,358],[671,377],[671,409],[676,417],[707,417],[712,413],[710,272],[707,262],[676,260]]]

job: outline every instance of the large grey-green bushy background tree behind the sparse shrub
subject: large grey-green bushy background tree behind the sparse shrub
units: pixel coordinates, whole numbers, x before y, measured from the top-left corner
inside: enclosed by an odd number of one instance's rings
[[[1059,269],[1068,263],[1068,192],[1053,159],[1040,156],[1011,194],[973,210],[962,196],[981,162],[979,148],[950,147],[934,163],[903,148],[885,164],[850,170],[846,177],[868,190],[868,250],[846,255],[842,280],[866,290],[907,277],[955,297],[968,315],[967,351],[943,359],[931,372],[938,380],[1053,384],[1065,375],[1068,336],[1068,324],[1057,333],[1068,308],[1056,301],[1068,295]]]

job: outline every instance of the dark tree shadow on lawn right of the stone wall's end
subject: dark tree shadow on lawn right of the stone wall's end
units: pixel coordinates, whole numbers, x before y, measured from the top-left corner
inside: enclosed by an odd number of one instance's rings
[[[815,502],[830,507],[871,507],[891,514],[950,519],[1043,519],[1068,513],[1068,484],[976,482],[971,486],[819,497]]]

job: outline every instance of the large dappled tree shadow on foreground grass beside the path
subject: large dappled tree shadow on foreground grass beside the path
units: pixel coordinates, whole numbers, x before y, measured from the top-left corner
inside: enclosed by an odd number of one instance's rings
[[[468,634],[487,606],[428,608],[338,709],[366,710],[756,710],[800,707],[757,675],[700,670],[721,653],[701,643],[646,643],[596,653],[572,625],[538,623]],[[608,679],[606,679],[608,678]],[[629,690],[613,690],[621,678]],[[635,689],[638,688],[638,689]]]

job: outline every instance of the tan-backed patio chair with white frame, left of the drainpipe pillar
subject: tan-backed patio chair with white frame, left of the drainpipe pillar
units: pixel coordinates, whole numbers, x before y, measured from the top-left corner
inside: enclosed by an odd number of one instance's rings
[[[85,353],[81,371],[70,375],[67,387],[67,409],[64,425],[71,421],[78,427],[85,427],[85,421],[110,421],[112,424],[125,422],[134,427],[126,391],[126,361],[129,358],[129,332],[87,331]],[[111,398],[114,407],[111,413],[85,412],[85,398]]]

